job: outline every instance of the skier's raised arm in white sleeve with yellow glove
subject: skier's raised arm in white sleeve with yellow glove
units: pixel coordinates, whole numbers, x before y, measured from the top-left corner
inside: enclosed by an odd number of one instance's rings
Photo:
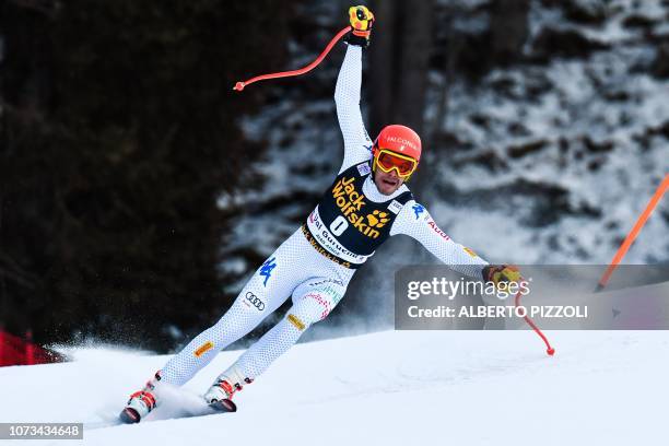
[[[371,157],[372,140],[365,129],[360,109],[362,84],[362,52],[369,44],[374,14],[365,7],[349,9],[352,32],[347,35],[349,45],[339,70],[334,87],[337,118],[344,141],[344,160],[339,172]]]

